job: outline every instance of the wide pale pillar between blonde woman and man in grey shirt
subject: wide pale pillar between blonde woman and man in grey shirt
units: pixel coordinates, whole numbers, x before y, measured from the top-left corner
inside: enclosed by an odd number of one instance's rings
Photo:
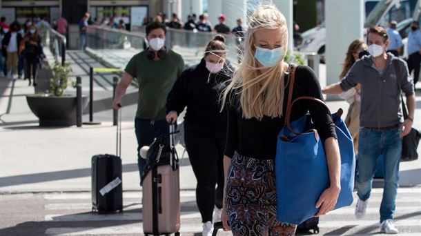
[[[363,38],[364,1],[326,0],[326,83],[336,83],[349,44]],[[324,85],[322,84],[322,87]]]

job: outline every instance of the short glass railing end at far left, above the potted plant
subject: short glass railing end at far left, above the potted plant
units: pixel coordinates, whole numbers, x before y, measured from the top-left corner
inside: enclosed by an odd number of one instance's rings
[[[52,55],[55,57],[56,61],[61,61],[61,66],[64,66],[66,63],[66,37],[60,35],[59,32],[48,28],[45,31],[46,45],[50,48]]]

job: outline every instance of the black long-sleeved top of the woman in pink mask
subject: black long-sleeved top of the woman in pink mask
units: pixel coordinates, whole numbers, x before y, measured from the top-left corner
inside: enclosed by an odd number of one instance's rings
[[[219,92],[231,79],[233,68],[226,61],[224,68],[210,74],[204,59],[182,73],[168,94],[167,114],[171,110],[179,115],[187,106],[185,121],[186,130],[226,133],[226,110],[222,112],[219,103]]]

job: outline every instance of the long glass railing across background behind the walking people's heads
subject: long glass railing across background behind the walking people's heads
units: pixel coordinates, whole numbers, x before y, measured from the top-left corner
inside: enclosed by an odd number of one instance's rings
[[[193,32],[190,30],[168,29],[166,33],[165,46],[182,55],[186,65],[193,66],[199,63],[204,56],[208,42],[215,37],[211,32]],[[117,64],[114,66],[126,66],[135,53],[141,52],[147,47],[144,32],[128,32],[125,30],[113,30],[98,26],[89,26],[87,30],[87,45],[92,50],[103,51],[102,59],[107,59],[108,52],[117,55]],[[238,46],[234,35],[224,35],[227,49],[227,58],[233,66],[239,62]],[[130,53],[129,53],[130,52]],[[120,54],[121,53],[121,54]],[[301,53],[305,64],[320,75],[320,55],[317,53]]]

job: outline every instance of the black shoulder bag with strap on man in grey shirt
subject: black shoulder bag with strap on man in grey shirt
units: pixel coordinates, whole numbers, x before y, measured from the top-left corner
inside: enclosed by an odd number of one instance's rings
[[[393,61],[393,66],[395,67],[395,71],[396,71],[396,77],[398,77],[398,89],[400,90],[400,76],[398,76],[398,71],[399,71],[399,65],[398,65],[398,61]],[[403,111],[403,115],[404,115],[404,119],[408,118],[408,110],[407,110],[407,106],[405,105],[404,102],[404,97],[402,96],[402,93],[400,94],[400,100],[402,101],[402,111]],[[418,131],[415,128],[411,128],[411,131],[409,132],[408,135],[405,135],[402,139],[402,155],[400,157],[400,161],[415,161],[416,159],[418,159],[418,153],[417,153],[417,148],[418,148],[418,143],[420,143],[420,138],[421,138],[421,132]]]

